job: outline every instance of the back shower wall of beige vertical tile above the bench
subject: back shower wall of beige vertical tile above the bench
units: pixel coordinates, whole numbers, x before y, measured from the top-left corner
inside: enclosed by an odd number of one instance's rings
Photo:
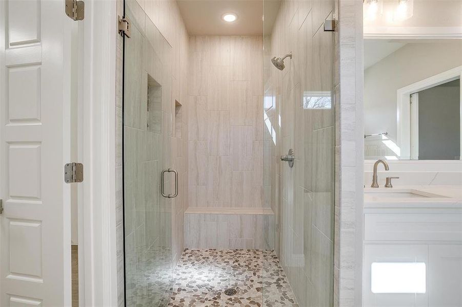
[[[263,37],[190,36],[189,207],[263,207]]]

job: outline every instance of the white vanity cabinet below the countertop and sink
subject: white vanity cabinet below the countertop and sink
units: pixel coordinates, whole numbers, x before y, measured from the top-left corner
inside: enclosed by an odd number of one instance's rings
[[[365,203],[363,263],[365,307],[462,306],[462,208]],[[420,273],[425,282],[414,278]],[[397,293],[403,281],[401,292],[417,293]]]

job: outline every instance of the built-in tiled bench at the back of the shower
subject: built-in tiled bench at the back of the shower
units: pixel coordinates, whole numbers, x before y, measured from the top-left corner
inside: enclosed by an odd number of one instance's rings
[[[185,247],[191,249],[274,249],[271,208],[189,207]]]

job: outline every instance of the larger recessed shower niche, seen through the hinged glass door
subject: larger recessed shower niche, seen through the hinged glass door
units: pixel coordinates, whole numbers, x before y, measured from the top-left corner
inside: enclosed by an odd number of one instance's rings
[[[148,130],[162,133],[162,86],[148,76],[147,122]]]

